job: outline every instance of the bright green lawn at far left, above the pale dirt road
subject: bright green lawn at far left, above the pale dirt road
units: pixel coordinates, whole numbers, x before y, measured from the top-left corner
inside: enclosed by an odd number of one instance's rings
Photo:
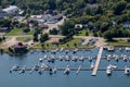
[[[17,36],[23,35],[22,28],[13,28],[11,32],[6,33],[5,36]],[[27,33],[27,35],[32,35],[32,32]]]

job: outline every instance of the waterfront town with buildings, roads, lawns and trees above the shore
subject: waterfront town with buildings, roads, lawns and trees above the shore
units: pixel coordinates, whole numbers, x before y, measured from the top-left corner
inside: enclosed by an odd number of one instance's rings
[[[23,16],[24,10],[16,5],[10,5],[0,11],[0,48],[8,52],[37,49],[55,49],[55,48],[93,48],[101,46],[126,46],[129,47],[129,36],[126,38],[101,37],[90,29],[91,22],[88,24],[73,23],[64,12],[41,11],[39,14]],[[112,21],[112,26],[116,22]],[[130,24],[125,23],[122,27],[129,28]],[[74,28],[72,33],[67,28]],[[65,30],[66,29],[66,30]],[[107,39],[106,39],[107,38]],[[118,44],[117,44],[118,42]],[[14,49],[14,50],[13,50]],[[20,52],[20,51],[18,51]]]

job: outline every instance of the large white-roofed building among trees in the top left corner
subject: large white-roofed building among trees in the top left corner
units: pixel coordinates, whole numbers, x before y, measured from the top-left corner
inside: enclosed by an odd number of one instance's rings
[[[2,9],[2,11],[6,12],[9,15],[16,15],[18,8],[16,5],[10,5],[9,8]]]

